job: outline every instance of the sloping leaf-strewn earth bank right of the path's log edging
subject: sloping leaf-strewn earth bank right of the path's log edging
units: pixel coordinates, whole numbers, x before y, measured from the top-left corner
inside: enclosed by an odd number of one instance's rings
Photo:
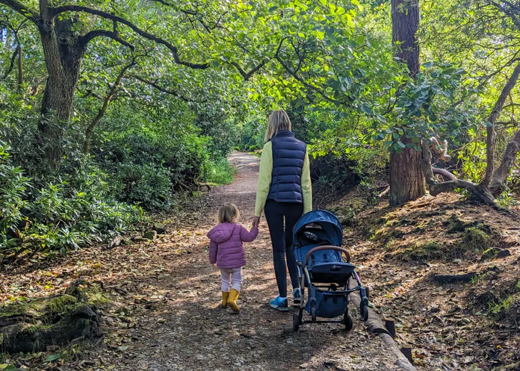
[[[518,206],[495,210],[457,194],[393,208],[363,206],[363,198],[358,189],[330,206],[340,217],[356,210],[344,246],[374,310],[396,321],[397,343],[411,345],[414,365],[520,370]]]

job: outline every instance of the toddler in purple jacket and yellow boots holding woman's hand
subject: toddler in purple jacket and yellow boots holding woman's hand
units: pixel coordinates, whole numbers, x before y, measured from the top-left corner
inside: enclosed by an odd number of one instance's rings
[[[243,243],[253,241],[258,234],[257,227],[248,232],[237,224],[239,216],[237,206],[223,205],[218,210],[218,226],[207,233],[211,240],[210,262],[218,267],[222,276],[222,307],[229,307],[234,312],[240,310],[237,299],[242,284],[242,267],[245,266]]]

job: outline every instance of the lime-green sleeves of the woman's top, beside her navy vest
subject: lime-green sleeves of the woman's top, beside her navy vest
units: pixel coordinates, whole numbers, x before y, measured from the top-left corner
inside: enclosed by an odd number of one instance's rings
[[[256,190],[255,216],[262,216],[272,177],[272,143],[267,142],[260,158],[260,173],[258,175],[258,187]],[[302,196],[303,212],[307,213],[313,209],[313,191],[310,184],[309,154],[305,153],[302,168]]]

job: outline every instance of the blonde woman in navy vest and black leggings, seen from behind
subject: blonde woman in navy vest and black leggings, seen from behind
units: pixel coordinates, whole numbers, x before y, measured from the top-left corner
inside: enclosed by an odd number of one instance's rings
[[[270,306],[280,311],[289,310],[287,268],[293,287],[293,301],[295,304],[300,302],[300,280],[294,258],[292,230],[296,221],[312,209],[312,197],[307,145],[294,137],[287,113],[274,111],[269,115],[260,160],[253,226],[258,227],[264,210],[280,294],[270,301]]]

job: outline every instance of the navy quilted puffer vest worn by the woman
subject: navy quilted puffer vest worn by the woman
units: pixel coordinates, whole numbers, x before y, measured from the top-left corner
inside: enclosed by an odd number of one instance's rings
[[[272,178],[267,200],[303,203],[302,169],[307,144],[290,130],[280,130],[272,143]]]

